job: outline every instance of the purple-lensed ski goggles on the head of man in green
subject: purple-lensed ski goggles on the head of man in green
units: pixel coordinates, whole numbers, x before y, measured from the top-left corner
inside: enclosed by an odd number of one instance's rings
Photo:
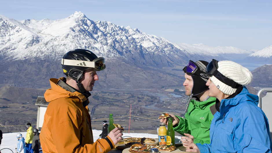
[[[201,71],[195,62],[189,61],[189,63],[183,68],[184,73],[188,75],[198,75],[199,77],[209,78],[205,72]],[[201,73],[203,72],[203,73]]]

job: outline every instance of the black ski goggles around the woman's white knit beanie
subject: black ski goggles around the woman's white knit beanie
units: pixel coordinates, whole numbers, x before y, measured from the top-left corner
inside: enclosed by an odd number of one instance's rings
[[[216,77],[216,79],[218,79],[219,81],[223,82],[224,84],[232,88],[237,89],[239,86],[242,86],[239,83],[227,78],[225,75],[220,73],[217,69],[218,69],[218,61],[215,59],[212,59],[212,61],[206,67],[206,74],[209,77],[212,77],[212,76]]]

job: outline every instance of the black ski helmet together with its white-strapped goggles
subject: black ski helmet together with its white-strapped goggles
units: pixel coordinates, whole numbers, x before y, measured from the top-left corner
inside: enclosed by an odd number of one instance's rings
[[[95,63],[91,66],[84,61]],[[74,49],[69,51],[63,56],[61,65],[63,73],[77,82],[82,79],[82,74],[87,69],[94,68],[97,71],[101,71],[106,68],[105,59],[103,57],[98,58],[93,52],[87,49]]]

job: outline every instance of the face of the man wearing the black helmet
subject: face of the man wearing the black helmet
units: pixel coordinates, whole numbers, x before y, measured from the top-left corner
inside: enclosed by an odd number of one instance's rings
[[[96,70],[88,69],[84,72],[83,78],[81,79],[81,84],[86,91],[92,91],[94,82],[98,80],[98,75]]]

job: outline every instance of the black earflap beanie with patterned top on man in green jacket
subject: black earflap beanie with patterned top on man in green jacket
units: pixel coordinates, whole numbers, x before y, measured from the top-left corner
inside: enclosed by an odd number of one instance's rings
[[[206,75],[206,67],[209,64],[207,61],[196,61],[196,65],[199,67],[199,73],[200,75],[191,75],[193,79],[193,87],[191,94],[193,96],[201,94],[202,92],[209,89],[209,87],[206,85],[206,82],[208,81],[209,77]]]

